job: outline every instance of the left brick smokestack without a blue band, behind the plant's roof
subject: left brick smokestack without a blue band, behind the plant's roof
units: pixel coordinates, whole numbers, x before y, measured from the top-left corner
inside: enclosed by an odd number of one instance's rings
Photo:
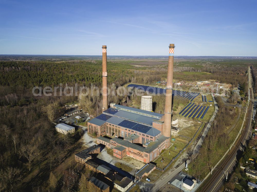
[[[108,93],[107,93],[107,53],[106,45],[103,48],[103,107],[102,112],[108,109]]]

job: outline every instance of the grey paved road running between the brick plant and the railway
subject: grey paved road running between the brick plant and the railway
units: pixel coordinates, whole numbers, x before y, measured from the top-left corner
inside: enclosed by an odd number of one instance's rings
[[[212,96],[213,97],[213,96]],[[193,153],[198,153],[198,149],[201,147],[203,140],[205,138],[205,136],[207,135],[210,125],[212,124],[217,112],[218,112],[218,106],[217,106],[217,102],[213,97],[213,101],[214,101],[214,106],[215,106],[215,111],[212,115],[212,117],[210,118],[209,123],[207,124],[207,126],[204,129],[203,135],[202,137],[199,139],[199,141],[197,142]],[[187,163],[190,163],[190,160],[187,160]],[[175,170],[174,169],[169,169],[168,171],[166,171],[165,173],[163,173],[158,179],[157,181],[154,183],[153,186],[153,191],[158,191],[163,185],[165,185],[166,183],[169,182],[169,180],[171,180],[171,178],[175,177],[175,175],[177,175],[180,171],[182,171],[182,169],[185,168],[185,162],[181,162],[181,165],[176,167]],[[146,184],[146,187],[150,187],[153,184]]]

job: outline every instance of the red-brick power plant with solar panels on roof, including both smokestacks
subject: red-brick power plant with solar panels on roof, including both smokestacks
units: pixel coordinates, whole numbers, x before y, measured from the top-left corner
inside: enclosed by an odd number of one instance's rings
[[[169,46],[168,74],[164,115],[148,110],[110,104],[107,93],[107,47],[103,49],[103,107],[102,114],[88,121],[88,132],[96,133],[97,143],[113,149],[113,155],[123,158],[128,155],[145,163],[157,158],[170,146],[172,118],[172,80],[174,44]],[[151,98],[146,99],[147,106]],[[141,106],[142,107],[142,106]],[[114,138],[106,138],[103,136]],[[123,138],[123,139],[121,139]],[[141,144],[143,146],[140,146]]]

